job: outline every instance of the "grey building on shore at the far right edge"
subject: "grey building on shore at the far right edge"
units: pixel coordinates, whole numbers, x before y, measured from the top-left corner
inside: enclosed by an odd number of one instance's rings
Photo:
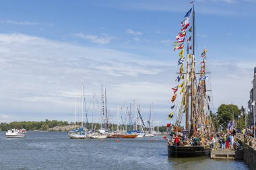
[[[249,124],[250,126],[253,126],[253,101],[256,102],[256,67],[254,68],[254,74],[253,74],[253,81],[251,82],[253,84],[253,88],[250,91],[250,100],[248,101],[248,108],[249,108]],[[256,122],[256,106],[254,106],[254,112],[255,112],[255,122]]]

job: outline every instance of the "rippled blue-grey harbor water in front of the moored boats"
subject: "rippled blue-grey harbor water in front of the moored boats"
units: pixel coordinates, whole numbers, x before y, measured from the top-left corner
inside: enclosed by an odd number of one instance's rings
[[[249,169],[243,161],[168,158],[166,139],[70,139],[66,132],[0,133],[0,169]]]

